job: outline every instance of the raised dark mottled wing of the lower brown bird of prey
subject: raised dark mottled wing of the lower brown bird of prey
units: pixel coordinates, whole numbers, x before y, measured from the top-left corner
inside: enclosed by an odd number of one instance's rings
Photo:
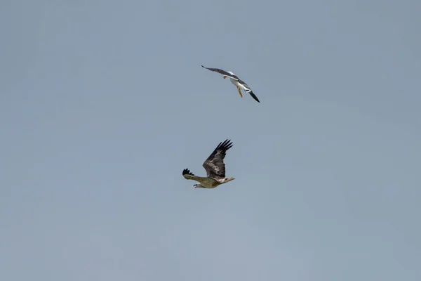
[[[225,178],[224,158],[229,148],[232,148],[232,143],[229,140],[225,140],[223,143],[220,143],[209,155],[208,159],[203,162],[203,168],[205,168],[209,178]]]

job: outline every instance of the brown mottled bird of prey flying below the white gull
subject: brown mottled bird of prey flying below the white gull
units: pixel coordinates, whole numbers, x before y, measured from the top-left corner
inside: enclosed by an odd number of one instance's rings
[[[225,177],[224,158],[229,148],[232,148],[230,140],[221,142],[209,155],[208,159],[203,162],[203,168],[205,168],[206,174],[208,174],[207,177],[194,176],[189,169],[184,169],[182,176],[186,180],[198,181],[199,184],[193,185],[194,188],[216,188],[222,183],[234,180],[234,178]]]

